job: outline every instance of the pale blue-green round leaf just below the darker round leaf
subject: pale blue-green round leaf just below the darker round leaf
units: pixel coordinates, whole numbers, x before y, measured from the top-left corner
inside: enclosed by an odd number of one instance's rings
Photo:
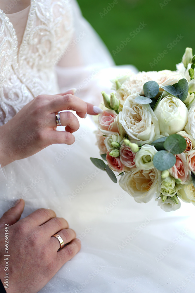
[[[160,171],[170,169],[175,163],[175,156],[168,151],[158,151],[153,157],[154,167]]]

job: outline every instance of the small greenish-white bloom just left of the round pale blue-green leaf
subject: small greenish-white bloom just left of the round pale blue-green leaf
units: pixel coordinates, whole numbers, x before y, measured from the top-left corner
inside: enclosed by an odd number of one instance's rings
[[[144,144],[135,155],[135,165],[140,170],[150,170],[154,168],[153,157],[158,151],[154,146]]]

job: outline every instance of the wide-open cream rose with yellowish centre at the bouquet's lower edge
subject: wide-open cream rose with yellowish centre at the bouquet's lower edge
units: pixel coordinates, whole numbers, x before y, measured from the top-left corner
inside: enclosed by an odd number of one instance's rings
[[[156,168],[151,170],[129,171],[119,180],[119,185],[129,193],[136,202],[149,202],[153,196],[158,197],[161,190],[161,174]]]

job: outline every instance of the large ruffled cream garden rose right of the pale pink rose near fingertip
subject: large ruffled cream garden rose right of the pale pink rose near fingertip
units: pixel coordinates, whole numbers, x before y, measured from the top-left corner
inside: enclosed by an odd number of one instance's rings
[[[156,115],[150,105],[141,105],[135,102],[137,94],[129,96],[119,112],[119,122],[130,139],[150,143],[159,132]]]

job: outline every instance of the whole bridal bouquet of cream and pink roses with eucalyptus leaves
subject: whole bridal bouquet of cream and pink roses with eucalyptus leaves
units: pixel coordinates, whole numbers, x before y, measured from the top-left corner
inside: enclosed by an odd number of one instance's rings
[[[91,158],[136,202],[154,197],[164,211],[195,205],[195,56],[186,48],[176,71],[139,72],[112,80],[103,96]],[[118,175],[118,176],[119,176]]]

